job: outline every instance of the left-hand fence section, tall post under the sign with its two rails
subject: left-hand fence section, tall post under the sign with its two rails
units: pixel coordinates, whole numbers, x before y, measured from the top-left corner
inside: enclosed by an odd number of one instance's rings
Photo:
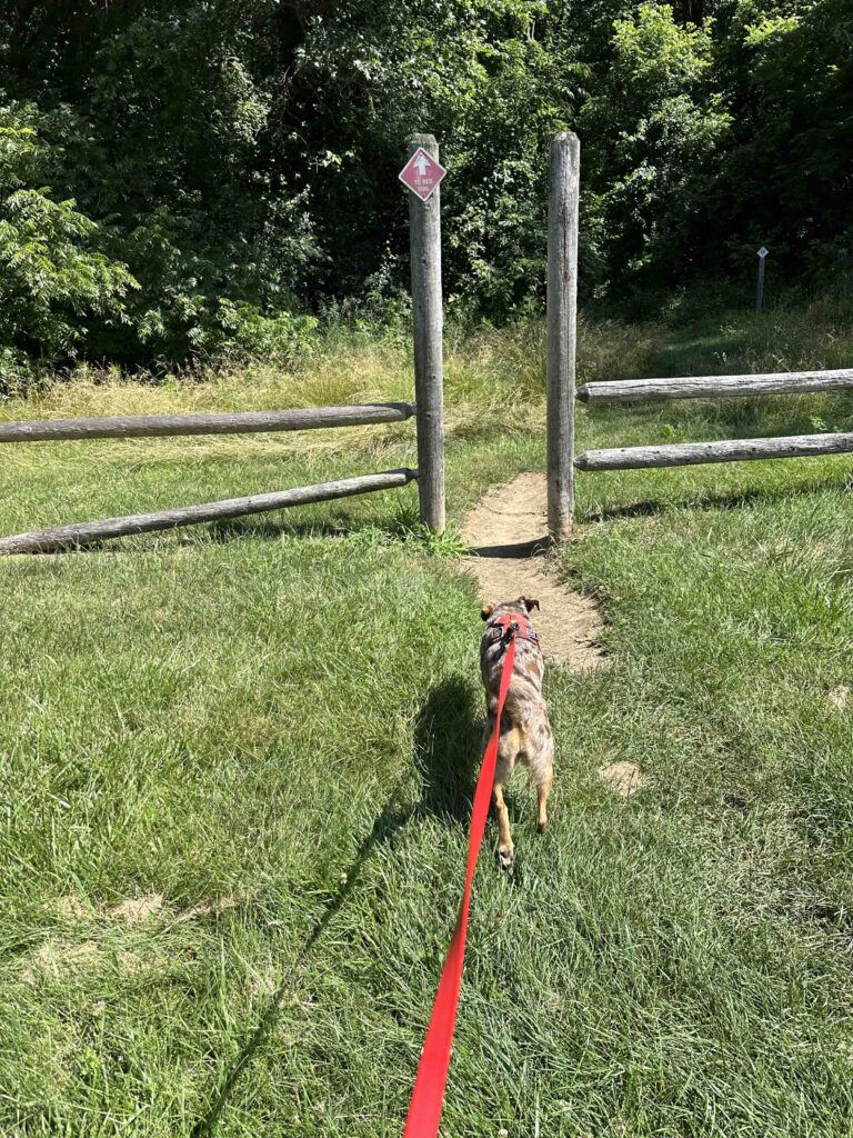
[[[419,147],[438,162],[431,134],[415,134],[409,156]],[[441,354],[441,225],[439,190],[428,200],[409,192],[412,303],[414,310],[414,403],[373,403],[353,406],[305,407],[291,411],[243,411],[229,414],[141,415],[134,418],[39,420],[0,423],[0,444],[57,443],[96,438],[163,438],[191,435],[242,435],[260,431],[317,430],[396,423],[413,415],[417,427],[417,469],[384,470],[315,486],[268,494],[177,506],[154,513],[101,518],[53,529],[0,538],[0,554],[49,553],[98,544],[106,538],[223,521],[270,510],[329,502],[406,486],[417,479],[420,517],[433,530],[445,528],[444,368]]]

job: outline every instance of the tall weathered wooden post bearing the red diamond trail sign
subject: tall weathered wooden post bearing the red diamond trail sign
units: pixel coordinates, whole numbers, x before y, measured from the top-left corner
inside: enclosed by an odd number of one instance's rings
[[[411,157],[419,147],[436,162],[432,134],[413,134]],[[421,522],[438,533],[445,528],[445,393],[441,332],[441,188],[426,201],[408,195],[412,249],[412,307],[415,340],[415,403],[417,404],[417,493]]]

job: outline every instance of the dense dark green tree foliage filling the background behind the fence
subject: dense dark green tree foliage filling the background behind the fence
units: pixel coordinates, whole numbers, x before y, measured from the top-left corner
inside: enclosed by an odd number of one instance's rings
[[[400,303],[413,130],[458,312],[541,303],[547,145],[613,300],[853,263],[850,0],[0,0],[0,349],[287,354]]]

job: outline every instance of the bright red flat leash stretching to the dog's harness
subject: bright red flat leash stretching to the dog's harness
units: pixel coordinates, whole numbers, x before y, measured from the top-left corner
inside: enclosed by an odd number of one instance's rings
[[[498,692],[495,729],[486,748],[480,768],[480,777],[474,792],[474,808],[471,813],[471,832],[467,840],[467,871],[465,873],[465,890],[462,894],[459,914],[456,917],[453,940],[447,950],[441,980],[432,1005],[426,1038],[423,1041],[421,1062],[417,1064],[417,1077],[408,1106],[406,1129],[403,1138],[437,1138],[438,1124],[441,1121],[441,1107],[445,1100],[447,1071],[450,1066],[450,1048],[456,1028],[456,1009],[459,1004],[459,984],[462,983],[462,964],[465,958],[465,935],[467,933],[467,914],[471,905],[471,884],[474,880],[477,859],[480,856],[486,820],[489,816],[489,801],[495,784],[495,767],[497,766],[498,737],[500,735],[500,714],[510,690],[510,679],[515,660],[515,635],[517,629],[510,629],[510,645],[504,657],[504,670],[500,673],[500,690]]]

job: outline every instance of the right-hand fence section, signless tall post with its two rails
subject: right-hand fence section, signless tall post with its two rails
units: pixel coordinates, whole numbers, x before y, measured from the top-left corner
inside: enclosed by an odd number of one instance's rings
[[[578,197],[580,143],[572,133],[552,142],[548,191],[548,528],[564,539],[574,513],[575,471],[638,470],[706,462],[798,459],[853,453],[853,432],[721,439],[666,446],[622,446],[574,454],[575,402],[641,403],[794,395],[853,388],[853,368],[756,376],[699,376],[585,384],[575,389]]]

